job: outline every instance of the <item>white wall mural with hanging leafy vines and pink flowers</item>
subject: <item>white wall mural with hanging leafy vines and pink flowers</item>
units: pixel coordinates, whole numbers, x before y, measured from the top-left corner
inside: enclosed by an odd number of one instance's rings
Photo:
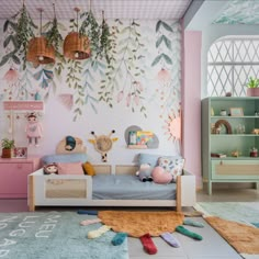
[[[109,59],[92,55],[86,60],[72,60],[59,55],[55,65],[33,66],[26,63],[24,69],[22,54],[12,53],[15,46],[13,24],[1,21],[2,101],[44,101],[46,133],[42,142],[43,153],[54,151],[55,143],[66,134],[75,133],[87,139],[91,131],[112,127],[117,134],[121,131],[123,136],[128,125],[139,125],[159,136],[160,150],[153,153],[180,153],[180,23],[119,19],[108,20],[106,23],[111,35]],[[59,21],[58,26],[63,37],[72,27],[67,21]],[[61,53],[63,49],[59,49]],[[48,130],[46,125],[57,119],[63,125],[57,125],[55,132]],[[18,124],[23,122],[20,120]],[[4,126],[0,130],[4,135]],[[18,140],[23,142],[18,135]],[[125,151],[123,137],[119,136],[119,139],[122,143],[117,145],[117,151],[120,148]],[[49,146],[50,142],[53,146]],[[88,149],[94,156],[91,146]]]

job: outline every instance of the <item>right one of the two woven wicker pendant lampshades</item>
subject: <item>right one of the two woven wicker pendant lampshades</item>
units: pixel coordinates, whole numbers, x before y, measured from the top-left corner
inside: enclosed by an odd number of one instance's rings
[[[91,56],[90,42],[77,32],[69,33],[64,41],[64,56],[70,59],[87,59]]]

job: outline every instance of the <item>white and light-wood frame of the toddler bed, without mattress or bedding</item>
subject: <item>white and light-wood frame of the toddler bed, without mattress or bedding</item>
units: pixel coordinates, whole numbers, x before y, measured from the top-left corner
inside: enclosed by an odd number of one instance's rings
[[[97,173],[105,174],[135,174],[137,166],[116,165],[114,170],[111,165],[95,165]],[[114,172],[113,172],[114,171]],[[53,180],[83,180],[86,181],[85,198],[46,198],[46,181]],[[196,202],[195,177],[183,170],[177,178],[177,200],[93,200],[92,177],[75,174],[43,174],[43,169],[29,174],[27,204],[31,212],[36,206],[168,206],[176,207],[178,212],[182,206],[193,206]]]

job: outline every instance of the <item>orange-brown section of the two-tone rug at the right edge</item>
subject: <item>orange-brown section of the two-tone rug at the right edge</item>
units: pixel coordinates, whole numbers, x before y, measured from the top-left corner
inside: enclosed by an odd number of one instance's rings
[[[259,255],[259,228],[216,216],[204,219],[239,254]]]

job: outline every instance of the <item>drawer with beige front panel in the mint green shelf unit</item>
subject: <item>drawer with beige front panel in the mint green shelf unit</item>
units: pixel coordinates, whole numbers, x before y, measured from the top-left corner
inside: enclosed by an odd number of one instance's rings
[[[259,179],[259,160],[212,160],[212,179]]]

